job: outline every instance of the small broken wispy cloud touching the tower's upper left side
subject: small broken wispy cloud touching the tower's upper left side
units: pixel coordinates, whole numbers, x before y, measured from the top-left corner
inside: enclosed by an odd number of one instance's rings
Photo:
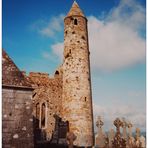
[[[63,20],[64,14],[60,14],[58,16],[52,17],[50,20],[38,20],[34,24],[32,24],[31,29],[36,30],[42,36],[55,39],[57,41],[58,36],[61,34],[63,30]],[[54,58],[58,58],[57,60],[62,62],[63,59],[63,42],[56,42],[55,44],[50,45],[51,52],[42,52],[42,57],[45,59],[49,59],[54,61]]]

